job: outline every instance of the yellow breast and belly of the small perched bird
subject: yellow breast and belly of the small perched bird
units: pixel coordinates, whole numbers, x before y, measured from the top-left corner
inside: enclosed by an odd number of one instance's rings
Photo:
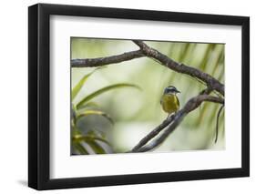
[[[171,114],[179,110],[179,99],[176,95],[166,94],[161,98],[161,105],[165,112]]]

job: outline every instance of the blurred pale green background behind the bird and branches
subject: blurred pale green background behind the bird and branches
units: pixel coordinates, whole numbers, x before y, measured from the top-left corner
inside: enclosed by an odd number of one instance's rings
[[[199,68],[224,84],[225,46],[223,44],[156,41],[145,41],[145,43],[177,62]],[[133,50],[138,50],[138,46],[130,40],[71,38],[71,59],[113,56]],[[72,88],[76,87],[82,77],[95,69],[95,67],[71,68]],[[85,141],[78,142],[79,147],[86,149],[83,151],[74,147],[73,139],[72,154],[126,152],[167,117],[160,107],[160,97],[165,87],[172,85],[181,91],[180,108],[190,97],[197,96],[205,88],[194,78],[176,73],[148,57],[142,57],[97,69],[87,78],[72,104],[76,105],[82,98],[102,87],[118,83],[134,84],[141,89],[120,87],[91,99],[93,103],[80,111],[102,111],[108,114],[114,123],[100,115],[90,114],[81,117],[76,127],[79,135],[92,134],[94,137],[103,138],[107,143],[95,139],[94,144],[97,144],[97,148],[101,148],[97,149],[95,145],[91,146],[84,139]],[[220,115],[219,138],[217,143],[214,143],[219,108],[220,104],[203,103],[185,117],[169,138],[153,151],[225,148],[224,111]]]

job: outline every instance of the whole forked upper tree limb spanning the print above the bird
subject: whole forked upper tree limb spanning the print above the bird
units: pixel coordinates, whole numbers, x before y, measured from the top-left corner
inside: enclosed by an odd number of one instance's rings
[[[98,58],[77,58],[71,60],[72,67],[88,67],[88,66],[106,66],[109,64],[116,64],[131,59],[148,56],[156,59],[163,66],[167,66],[170,69],[189,75],[190,77],[196,77],[203,81],[208,87],[213,90],[220,92],[224,96],[224,85],[221,84],[217,79],[211,77],[209,74],[200,71],[192,66],[186,66],[184,64],[178,63],[168,56],[161,54],[158,50],[149,47],[144,42],[140,40],[133,40],[133,42],[140,47],[140,50],[130,51],[117,56],[107,56]]]

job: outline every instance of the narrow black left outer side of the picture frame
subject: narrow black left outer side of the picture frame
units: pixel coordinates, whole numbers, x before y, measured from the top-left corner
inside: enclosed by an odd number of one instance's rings
[[[38,188],[37,47],[38,5],[28,7],[28,187]]]

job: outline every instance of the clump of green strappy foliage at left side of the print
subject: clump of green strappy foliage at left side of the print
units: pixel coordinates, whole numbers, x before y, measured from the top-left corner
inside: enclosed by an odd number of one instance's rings
[[[74,99],[77,97],[77,94],[81,91],[82,88],[85,88],[87,79],[93,75],[99,68],[96,68],[94,71],[86,74],[82,77],[77,85],[73,87],[71,97],[72,97],[72,110],[71,110],[71,145],[72,145],[72,154],[106,154],[109,150],[112,150],[111,145],[106,138],[105,134],[98,131],[96,128],[88,129],[86,133],[83,133],[81,128],[77,125],[80,119],[85,117],[94,116],[94,117],[104,117],[109,123],[114,125],[114,120],[108,115],[108,113],[95,109],[100,106],[93,100],[110,90],[122,88],[122,87],[134,87],[140,89],[138,86],[128,83],[118,83],[115,85],[110,85],[108,87],[102,87],[97,89],[97,91],[83,97],[77,104],[74,103]],[[87,126],[85,127],[87,128]]]

